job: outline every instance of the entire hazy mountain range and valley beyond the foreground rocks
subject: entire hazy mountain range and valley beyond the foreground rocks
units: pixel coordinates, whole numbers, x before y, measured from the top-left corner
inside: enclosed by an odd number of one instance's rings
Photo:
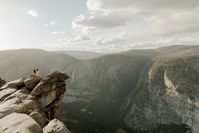
[[[2,78],[35,67],[43,74],[69,74],[62,115],[75,133],[198,132],[199,46],[130,50],[89,60],[60,52],[13,53],[0,52]]]

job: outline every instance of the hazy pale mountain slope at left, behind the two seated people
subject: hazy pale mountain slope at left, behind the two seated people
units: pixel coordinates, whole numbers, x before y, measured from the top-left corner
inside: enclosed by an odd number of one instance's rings
[[[65,68],[78,60],[59,53],[37,49],[8,50],[0,52],[0,77],[11,81],[29,75],[38,68],[41,74],[54,70],[65,71]]]

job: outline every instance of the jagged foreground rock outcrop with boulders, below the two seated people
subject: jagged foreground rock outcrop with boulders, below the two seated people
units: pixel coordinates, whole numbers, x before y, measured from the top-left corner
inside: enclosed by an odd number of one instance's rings
[[[44,78],[21,78],[3,83],[0,88],[0,132],[70,133],[57,120],[68,78],[65,73],[54,72]]]

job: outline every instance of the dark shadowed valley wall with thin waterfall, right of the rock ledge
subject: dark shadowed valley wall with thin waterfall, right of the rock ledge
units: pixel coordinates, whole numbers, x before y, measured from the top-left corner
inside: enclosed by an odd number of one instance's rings
[[[70,71],[63,113],[67,119],[82,124],[79,129],[75,127],[76,132],[108,133],[122,126],[119,108],[135,88],[140,71],[149,59],[150,56],[109,55],[75,64]],[[70,120],[65,121],[70,124]]]

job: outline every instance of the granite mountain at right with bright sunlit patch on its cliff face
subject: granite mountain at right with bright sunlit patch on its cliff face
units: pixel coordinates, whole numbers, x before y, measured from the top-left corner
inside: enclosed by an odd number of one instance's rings
[[[137,87],[127,97],[130,102],[125,102],[124,121],[129,128],[149,131],[174,124],[186,128],[181,132],[199,132],[199,56],[187,55],[165,55],[142,70]]]

